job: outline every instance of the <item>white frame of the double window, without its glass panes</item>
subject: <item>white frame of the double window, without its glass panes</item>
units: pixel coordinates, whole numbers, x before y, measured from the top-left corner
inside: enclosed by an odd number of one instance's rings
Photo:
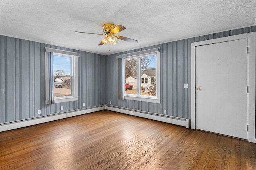
[[[157,50],[153,50],[154,52],[149,52],[152,50],[146,50],[140,51],[140,54],[137,53],[131,53],[130,55],[125,55],[123,57],[123,66],[122,66],[122,87],[124,89],[125,85],[125,61],[130,59],[137,59],[137,82],[136,86],[137,88],[137,94],[125,94],[125,90],[122,90],[122,94],[124,96],[125,100],[137,100],[137,101],[143,101],[143,102],[152,102],[152,103],[160,103],[160,49],[157,48]],[[140,73],[140,58],[144,57],[156,57],[156,96],[145,96],[145,95],[138,95],[140,94],[140,83],[142,82],[141,73]],[[138,67],[139,66],[139,67]]]

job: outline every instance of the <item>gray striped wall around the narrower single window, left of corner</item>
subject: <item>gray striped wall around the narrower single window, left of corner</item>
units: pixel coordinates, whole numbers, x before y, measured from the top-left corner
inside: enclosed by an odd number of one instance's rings
[[[80,53],[78,101],[45,105],[45,47]],[[103,105],[105,61],[103,55],[1,35],[0,123]]]

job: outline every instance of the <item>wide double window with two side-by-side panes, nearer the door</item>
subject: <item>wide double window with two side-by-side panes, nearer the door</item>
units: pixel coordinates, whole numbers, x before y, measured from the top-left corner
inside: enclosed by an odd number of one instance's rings
[[[124,99],[160,103],[159,50],[157,48],[120,55],[123,61],[122,96]],[[129,88],[130,86],[132,88]]]

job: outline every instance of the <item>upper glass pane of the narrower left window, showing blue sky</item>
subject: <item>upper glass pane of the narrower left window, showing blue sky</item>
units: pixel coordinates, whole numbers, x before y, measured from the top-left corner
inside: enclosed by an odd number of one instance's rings
[[[71,75],[71,58],[54,55],[54,75]]]

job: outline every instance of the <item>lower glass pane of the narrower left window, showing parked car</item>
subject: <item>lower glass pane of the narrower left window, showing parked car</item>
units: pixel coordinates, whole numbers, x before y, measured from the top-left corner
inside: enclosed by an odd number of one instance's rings
[[[70,76],[54,76],[54,98],[71,96],[71,82]]]

